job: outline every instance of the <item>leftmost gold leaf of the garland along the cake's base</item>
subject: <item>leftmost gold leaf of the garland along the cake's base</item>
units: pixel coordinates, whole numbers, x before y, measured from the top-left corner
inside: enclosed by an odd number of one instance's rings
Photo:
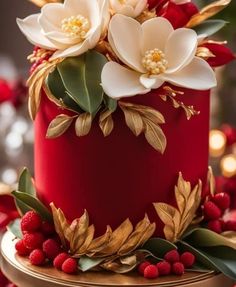
[[[62,212],[60,208],[57,209],[53,203],[51,203],[50,206],[52,209],[52,215],[53,215],[53,221],[54,221],[56,233],[59,235],[62,245],[66,247],[67,244],[66,244],[66,238],[65,238],[64,232],[69,227],[69,224],[66,220],[64,213]]]

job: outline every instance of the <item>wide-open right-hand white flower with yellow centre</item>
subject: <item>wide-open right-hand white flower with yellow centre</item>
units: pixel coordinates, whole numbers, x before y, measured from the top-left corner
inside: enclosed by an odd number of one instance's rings
[[[198,38],[191,29],[174,30],[162,17],[141,25],[117,14],[110,21],[108,40],[124,64],[111,61],[103,68],[102,86],[112,98],[145,94],[164,82],[196,90],[216,86],[212,68],[195,56]]]

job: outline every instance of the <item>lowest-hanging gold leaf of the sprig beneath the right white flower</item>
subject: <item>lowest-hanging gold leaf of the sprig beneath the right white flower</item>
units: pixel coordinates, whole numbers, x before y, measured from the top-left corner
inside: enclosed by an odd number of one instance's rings
[[[147,118],[143,118],[145,123],[145,138],[148,143],[160,153],[164,153],[166,149],[166,137],[162,129]]]

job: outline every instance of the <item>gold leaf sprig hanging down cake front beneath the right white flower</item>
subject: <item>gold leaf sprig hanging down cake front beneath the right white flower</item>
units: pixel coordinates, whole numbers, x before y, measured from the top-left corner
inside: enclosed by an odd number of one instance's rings
[[[166,149],[166,137],[160,124],[165,123],[163,115],[155,109],[143,105],[127,102],[119,102],[124,112],[127,126],[134,135],[144,133],[148,143],[157,151],[164,153]]]

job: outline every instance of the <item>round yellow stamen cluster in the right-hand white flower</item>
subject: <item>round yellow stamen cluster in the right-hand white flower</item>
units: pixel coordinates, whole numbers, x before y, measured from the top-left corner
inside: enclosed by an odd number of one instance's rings
[[[152,75],[164,73],[168,66],[168,62],[165,59],[165,54],[157,48],[145,52],[142,59],[142,64],[144,68]]]

